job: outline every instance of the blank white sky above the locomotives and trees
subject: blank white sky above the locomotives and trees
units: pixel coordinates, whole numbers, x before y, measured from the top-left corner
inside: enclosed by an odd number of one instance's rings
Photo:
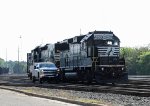
[[[0,57],[26,61],[36,46],[112,31],[122,47],[150,43],[149,0],[0,0]]]

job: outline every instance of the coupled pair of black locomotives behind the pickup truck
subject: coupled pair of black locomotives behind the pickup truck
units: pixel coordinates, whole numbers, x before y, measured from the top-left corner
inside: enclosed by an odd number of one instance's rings
[[[51,61],[62,80],[98,83],[126,82],[128,73],[120,58],[120,40],[111,31],[93,31],[32,50],[34,60]]]

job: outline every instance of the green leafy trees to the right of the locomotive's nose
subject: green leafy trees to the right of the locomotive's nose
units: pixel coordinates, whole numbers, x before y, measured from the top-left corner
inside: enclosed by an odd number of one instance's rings
[[[150,49],[147,47],[140,48],[121,48],[121,56],[125,57],[126,66],[131,75],[148,75],[150,74]]]

